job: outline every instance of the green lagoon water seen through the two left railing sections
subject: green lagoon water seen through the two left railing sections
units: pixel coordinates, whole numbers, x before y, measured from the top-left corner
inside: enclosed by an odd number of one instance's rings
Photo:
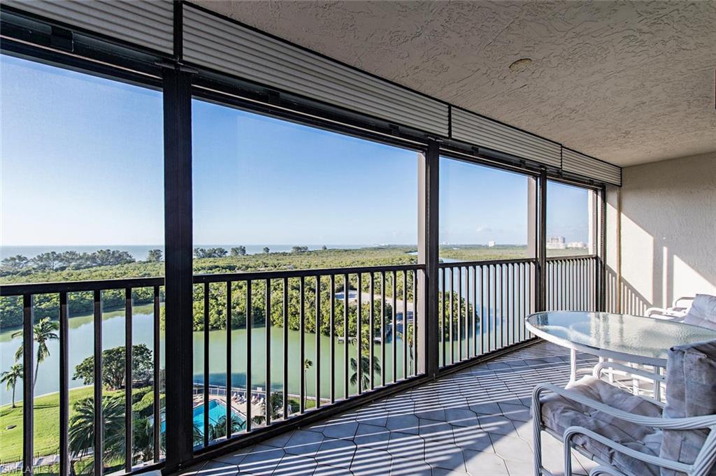
[[[125,317],[124,310],[105,312],[102,315],[102,348],[110,349],[125,344]],[[13,337],[13,332],[3,331],[0,333],[0,371],[9,369],[14,363],[14,354],[18,346],[21,344],[21,337]],[[74,367],[79,364],[82,359],[92,356],[93,351],[93,334],[94,318],[92,314],[83,316],[74,316],[69,319],[69,371],[70,377],[74,374]],[[147,347],[153,349],[153,315],[152,306],[135,306],[133,308],[132,318],[132,341],[133,344],[146,344]],[[203,382],[203,332],[194,333],[194,381]],[[301,369],[303,365],[300,359],[300,339],[299,331],[288,331],[288,362],[289,375],[289,393],[298,394],[300,392]],[[331,380],[331,358],[330,358],[330,341],[328,336],[320,336],[320,373],[321,373],[321,397],[330,396],[330,380]],[[251,387],[266,388],[266,329],[261,324],[251,330]],[[271,328],[271,388],[283,389],[284,375],[284,329],[278,327]],[[397,340],[397,378],[402,378],[402,361],[403,346],[400,339]],[[35,395],[47,394],[59,391],[59,341],[49,341],[48,344],[49,357],[45,359],[39,366],[37,375],[37,384],[35,387]],[[349,345],[349,358],[357,356],[357,349],[353,345]],[[381,359],[380,344],[374,344],[374,352],[377,359],[384,364]],[[385,344],[386,363],[385,377],[386,382],[392,380],[392,343],[387,341]],[[306,369],[306,392],[309,397],[316,394],[316,369],[318,359],[316,359],[316,335],[306,333],[304,335],[304,354],[306,359],[310,359],[312,366]],[[160,360],[161,366],[164,368],[165,360],[172,359],[175,356],[165,353],[163,331],[160,334]],[[246,329],[236,329],[231,332],[231,384],[233,387],[246,387]],[[409,360],[410,362],[410,357]],[[226,331],[210,331],[209,332],[209,383],[216,385],[226,384]],[[349,377],[354,372],[349,367]],[[344,395],[344,344],[335,339],[334,345],[334,369],[335,376],[335,392],[336,397],[340,398]],[[375,384],[381,383],[379,374],[375,375]],[[70,380],[69,387],[81,387],[83,383],[79,380]],[[356,392],[355,386],[349,386],[349,393]],[[16,399],[21,399],[21,384],[18,385]],[[9,404],[11,400],[11,392],[2,386],[0,388],[0,404]]]

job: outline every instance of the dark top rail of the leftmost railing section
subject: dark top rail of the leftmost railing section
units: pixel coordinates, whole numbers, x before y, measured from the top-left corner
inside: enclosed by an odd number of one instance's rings
[[[107,291],[109,289],[151,288],[153,286],[164,286],[164,278],[161,276],[155,276],[150,278],[100,279],[93,281],[1,284],[0,296]]]

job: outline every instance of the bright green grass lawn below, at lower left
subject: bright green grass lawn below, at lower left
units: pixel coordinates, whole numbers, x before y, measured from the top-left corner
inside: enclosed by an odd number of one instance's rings
[[[79,387],[69,391],[69,417],[74,410],[72,404],[79,399],[92,397],[92,387]],[[110,395],[119,392],[107,392]],[[34,452],[37,454],[55,454],[59,452],[59,392],[35,397],[34,402]],[[19,461],[22,459],[22,402],[0,407],[0,461]],[[15,426],[7,429],[7,427]]]

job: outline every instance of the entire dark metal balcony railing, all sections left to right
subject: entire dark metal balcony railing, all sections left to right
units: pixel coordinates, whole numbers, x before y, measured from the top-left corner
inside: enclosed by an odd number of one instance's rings
[[[595,309],[597,266],[596,256],[548,258],[548,309]],[[419,309],[427,296],[422,288],[425,265],[193,276],[195,347],[201,348],[195,353],[195,359],[201,361],[195,361],[190,384],[195,410],[194,451],[203,452],[257,429],[283,425],[365,392],[419,377],[420,359],[427,359],[430,352],[437,352],[432,358],[445,369],[531,339],[524,320],[537,310],[538,272],[534,258],[440,263],[435,317],[438,349],[422,350],[426,354],[419,352],[419,340],[427,336],[420,328],[425,311]],[[68,299],[72,293],[90,293],[95,428],[101,428],[103,421],[102,351],[106,349],[102,346],[102,303],[103,298],[111,297],[112,304],[123,309],[125,319],[125,455],[121,466],[131,472],[162,464],[161,319],[166,326],[173,325],[172,316],[163,316],[161,309],[163,285],[163,278],[133,278],[0,287],[0,296],[16,296],[23,306],[24,455],[34,454],[33,301],[48,294],[59,299],[59,472],[65,476],[69,475],[69,460],[74,454],[68,443]],[[137,304],[132,296],[142,289],[145,297],[140,303],[149,299],[152,304],[155,450],[152,461],[133,464],[133,390],[126,382],[132,382],[132,311]],[[221,360],[226,359],[221,372],[212,372],[212,365],[216,365],[216,352],[212,359],[212,350],[218,350]],[[309,371],[306,363],[311,358],[314,361]],[[219,412],[225,421],[221,423],[216,405],[210,405],[215,399],[223,404]],[[235,424],[237,417],[239,424]],[[95,475],[101,475],[110,463],[102,450],[107,437],[117,436],[95,432],[92,446],[87,448],[87,452],[102,455],[92,463]],[[116,457],[111,463],[120,465]],[[32,467],[32,457],[24,456],[23,467]]]

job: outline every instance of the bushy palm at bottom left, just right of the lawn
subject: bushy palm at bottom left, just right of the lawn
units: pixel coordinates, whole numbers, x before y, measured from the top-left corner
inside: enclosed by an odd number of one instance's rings
[[[95,445],[95,399],[74,402],[74,414],[69,419],[69,451],[80,458],[89,454]],[[125,401],[122,397],[102,399],[102,466],[125,457]],[[95,457],[95,455],[92,455]]]

